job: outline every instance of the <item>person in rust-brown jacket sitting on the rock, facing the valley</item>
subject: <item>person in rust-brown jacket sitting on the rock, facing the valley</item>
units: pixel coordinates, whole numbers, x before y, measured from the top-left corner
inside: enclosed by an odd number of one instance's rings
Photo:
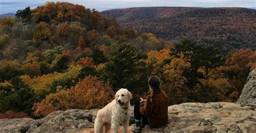
[[[135,127],[133,132],[140,132],[146,123],[158,128],[168,122],[168,98],[160,89],[160,79],[152,76],[147,82],[150,88],[146,99],[140,98],[139,102],[134,103]]]

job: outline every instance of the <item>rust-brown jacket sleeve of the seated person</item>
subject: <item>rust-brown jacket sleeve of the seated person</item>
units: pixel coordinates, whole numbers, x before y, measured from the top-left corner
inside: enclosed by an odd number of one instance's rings
[[[150,93],[147,95],[146,101],[140,104],[139,110],[140,113],[144,116],[151,116],[152,115],[152,102],[150,102]]]

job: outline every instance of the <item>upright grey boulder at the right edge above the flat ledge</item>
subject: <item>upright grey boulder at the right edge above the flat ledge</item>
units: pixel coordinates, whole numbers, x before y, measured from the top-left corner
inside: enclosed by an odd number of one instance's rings
[[[256,104],[256,69],[252,70],[247,77],[247,83],[242,89],[238,104]]]

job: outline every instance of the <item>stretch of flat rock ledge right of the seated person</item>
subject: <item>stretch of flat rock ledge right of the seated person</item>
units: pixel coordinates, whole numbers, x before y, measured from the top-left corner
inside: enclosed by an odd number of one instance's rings
[[[256,105],[241,107],[230,102],[184,103],[169,110],[169,123],[147,132],[255,132]]]

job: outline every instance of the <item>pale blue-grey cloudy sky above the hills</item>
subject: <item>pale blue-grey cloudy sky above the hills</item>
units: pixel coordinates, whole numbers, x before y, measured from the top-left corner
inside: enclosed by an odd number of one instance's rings
[[[45,0],[0,0],[0,14],[16,13],[17,10],[25,9],[27,6],[33,9],[45,2]],[[82,4],[86,8],[95,8],[98,11],[141,6],[256,7],[256,0],[66,0],[65,2]]]

